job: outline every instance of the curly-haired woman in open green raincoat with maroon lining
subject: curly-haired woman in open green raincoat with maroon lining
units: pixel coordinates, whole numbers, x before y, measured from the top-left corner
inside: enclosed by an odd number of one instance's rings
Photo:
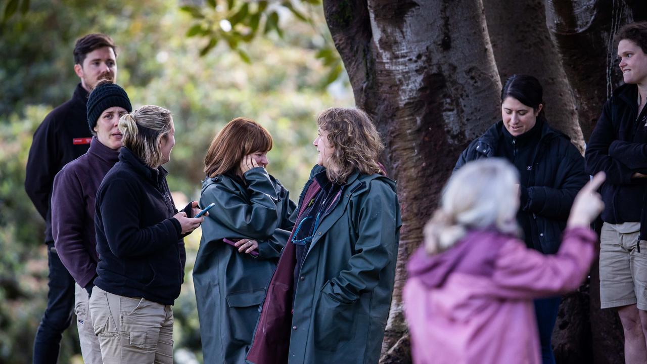
[[[377,363],[391,302],[400,207],[364,111],[317,118],[319,154],[270,280],[250,363]]]

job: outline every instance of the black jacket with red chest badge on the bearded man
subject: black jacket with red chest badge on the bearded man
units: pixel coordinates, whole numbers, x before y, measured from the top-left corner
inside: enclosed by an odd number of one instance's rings
[[[54,242],[50,207],[54,176],[90,148],[92,133],[85,113],[87,95],[81,84],[76,85],[72,98],[47,114],[38,126],[29,150],[25,191],[45,219],[45,242]]]

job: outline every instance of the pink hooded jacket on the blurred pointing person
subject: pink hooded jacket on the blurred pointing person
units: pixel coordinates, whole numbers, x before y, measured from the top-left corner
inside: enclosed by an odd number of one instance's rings
[[[472,231],[454,247],[408,264],[404,312],[413,363],[540,364],[532,299],[578,288],[597,236],[568,229],[556,255],[498,231]]]

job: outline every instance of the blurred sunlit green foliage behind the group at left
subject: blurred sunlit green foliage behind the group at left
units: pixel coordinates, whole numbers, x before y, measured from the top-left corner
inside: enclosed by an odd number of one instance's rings
[[[5,303],[0,306],[0,363],[30,361],[45,308],[44,227],[24,191],[25,164],[39,123],[71,97],[78,83],[72,71],[74,40],[87,32],[109,34],[119,50],[118,83],[133,106],[157,104],[173,113],[176,145],[166,165],[171,190],[199,198],[204,154],[212,138],[226,122],[244,116],[260,122],[274,137],[268,170],[296,200],[316,159],[311,144],[316,114],[354,102],[343,71],[342,81],[323,87],[336,51],[319,47],[329,38],[318,30],[323,26],[322,9],[299,8],[312,23],[288,24],[282,23],[288,19],[284,14],[298,16],[277,4],[259,1],[243,10],[241,1],[214,0],[181,10],[186,4],[176,0],[32,0],[27,14],[16,12],[6,19],[0,49],[12,56],[0,58],[0,78],[5,81],[0,84],[0,300]],[[255,28],[259,36],[253,41],[222,38],[202,54],[204,32],[213,31],[207,19],[215,8],[231,16],[247,11],[236,23],[237,31]],[[194,17],[195,10],[204,14],[203,21]],[[260,36],[272,12],[278,14],[283,38],[274,28]],[[232,51],[232,44],[239,47]],[[195,231],[185,241],[186,278],[173,310],[176,354],[190,352],[201,361],[191,277],[199,238]],[[67,330],[60,362],[76,363],[79,352],[76,329]]]

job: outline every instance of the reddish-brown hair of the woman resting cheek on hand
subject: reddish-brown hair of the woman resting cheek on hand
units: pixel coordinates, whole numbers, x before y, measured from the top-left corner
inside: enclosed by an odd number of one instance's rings
[[[230,172],[243,157],[272,149],[272,135],[254,120],[238,117],[215,135],[204,157],[207,177]]]

